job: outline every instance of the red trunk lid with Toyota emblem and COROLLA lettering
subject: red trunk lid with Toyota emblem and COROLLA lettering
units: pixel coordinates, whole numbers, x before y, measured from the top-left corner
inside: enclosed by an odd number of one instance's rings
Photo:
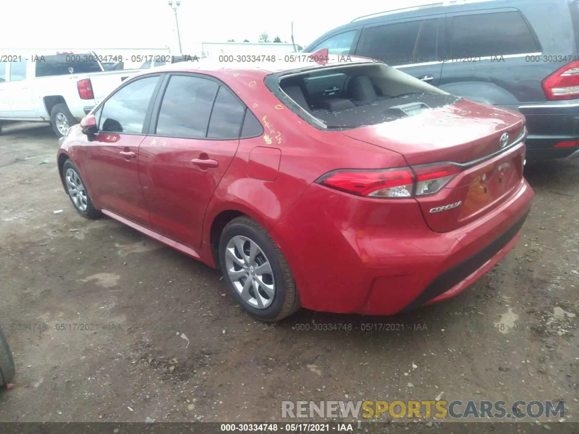
[[[509,135],[506,149],[500,152],[505,133]],[[411,167],[462,164],[461,172],[437,193],[416,196],[427,225],[438,233],[481,218],[508,200],[523,182],[525,145],[512,144],[525,134],[525,118],[508,109],[461,100],[342,134],[401,153]]]

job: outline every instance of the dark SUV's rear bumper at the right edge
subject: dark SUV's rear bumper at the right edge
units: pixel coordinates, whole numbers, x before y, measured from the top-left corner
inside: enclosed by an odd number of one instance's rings
[[[529,136],[527,159],[566,158],[577,153],[579,146],[555,148],[561,142],[579,141],[579,101],[548,101],[521,105],[519,111],[527,119]]]

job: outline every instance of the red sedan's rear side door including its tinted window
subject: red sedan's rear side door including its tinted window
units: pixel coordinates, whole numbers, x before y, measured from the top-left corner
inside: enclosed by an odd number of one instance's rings
[[[235,97],[217,80],[175,73],[167,82],[139,148],[140,182],[152,229],[197,248],[207,205],[237,152],[245,108],[219,115],[222,95]],[[219,123],[236,125],[234,137],[212,139]]]

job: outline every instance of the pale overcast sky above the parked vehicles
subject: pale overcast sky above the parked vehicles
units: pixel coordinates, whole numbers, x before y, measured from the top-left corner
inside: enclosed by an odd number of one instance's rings
[[[181,0],[179,30],[183,52],[193,53],[201,42],[257,42],[262,32],[291,42],[294,21],[295,42],[306,46],[357,16],[424,3],[433,1]],[[175,16],[167,0],[6,0],[1,10],[0,49],[168,45],[178,52]]]

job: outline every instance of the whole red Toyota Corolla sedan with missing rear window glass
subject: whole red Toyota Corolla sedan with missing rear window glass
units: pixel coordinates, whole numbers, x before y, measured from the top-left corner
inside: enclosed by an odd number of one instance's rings
[[[301,60],[133,76],[61,139],[76,210],[221,267],[265,321],[395,314],[510,251],[533,198],[522,115],[362,58]]]

